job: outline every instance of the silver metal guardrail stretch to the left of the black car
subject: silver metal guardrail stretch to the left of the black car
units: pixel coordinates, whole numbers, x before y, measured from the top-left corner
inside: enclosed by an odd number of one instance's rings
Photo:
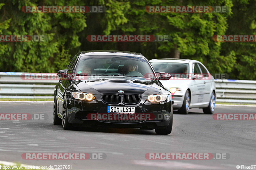
[[[0,72],[0,98],[53,99],[58,81],[56,73]]]

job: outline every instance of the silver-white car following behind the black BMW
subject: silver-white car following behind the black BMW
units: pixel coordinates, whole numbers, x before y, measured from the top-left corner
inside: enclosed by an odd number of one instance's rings
[[[149,61],[156,72],[171,74],[161,81],[172,93],[173,109],[188,114],[190,108],[203,108],[205,114],[215,110],[216,88],[214,78],[206,67],[196,60],[153,59]]]

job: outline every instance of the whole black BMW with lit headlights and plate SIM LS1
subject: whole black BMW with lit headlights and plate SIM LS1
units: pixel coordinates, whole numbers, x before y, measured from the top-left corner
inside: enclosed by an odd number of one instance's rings
[[[67,70],[59,70],[54,92],[53,123],[64,129],[122,127],[172,132],[172,94],[142,54],[82,51]]]

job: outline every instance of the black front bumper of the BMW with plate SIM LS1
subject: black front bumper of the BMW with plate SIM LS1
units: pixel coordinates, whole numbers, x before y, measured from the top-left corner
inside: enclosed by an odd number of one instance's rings
[[[91,102],[85,102],[81,100],[75,100],[71,97],[71,93],[66,93],[67,99],[67,115],[68,122],[73,123],[74,126],[102,126],[102,127],[124,127],[124,128],[145,128],[155,129],[159,126],[167,126],[172,119],[172,100],[171,95],[167,95],[166,102],[158,104],[152,104],[147,100],[147,96],[142,96],[141,101],[135,105],[124,105],[122,102],[119,104],[106,104],[101,100],[100,95],[94,95],[95,100]],[[122,97],[122,96],[121,96]],[[107,113],[108,106],[127,106],[135,107],[135,113],[150,113],[157,116],[157,114],[168,115],[168,120],[140,120],[134,122],[113,122],[102,120],[88,120],[88,114]],[[172,120],[171,120],[172,121]]]

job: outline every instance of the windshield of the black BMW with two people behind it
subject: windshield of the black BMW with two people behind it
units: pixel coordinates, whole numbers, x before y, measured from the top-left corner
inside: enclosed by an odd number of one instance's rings
[[[119,55],[87,55],[80,57],[76,74],[112,77],[155,78],[148,61],[142,57]],[[149,76],[148,76],[149,75]]]

